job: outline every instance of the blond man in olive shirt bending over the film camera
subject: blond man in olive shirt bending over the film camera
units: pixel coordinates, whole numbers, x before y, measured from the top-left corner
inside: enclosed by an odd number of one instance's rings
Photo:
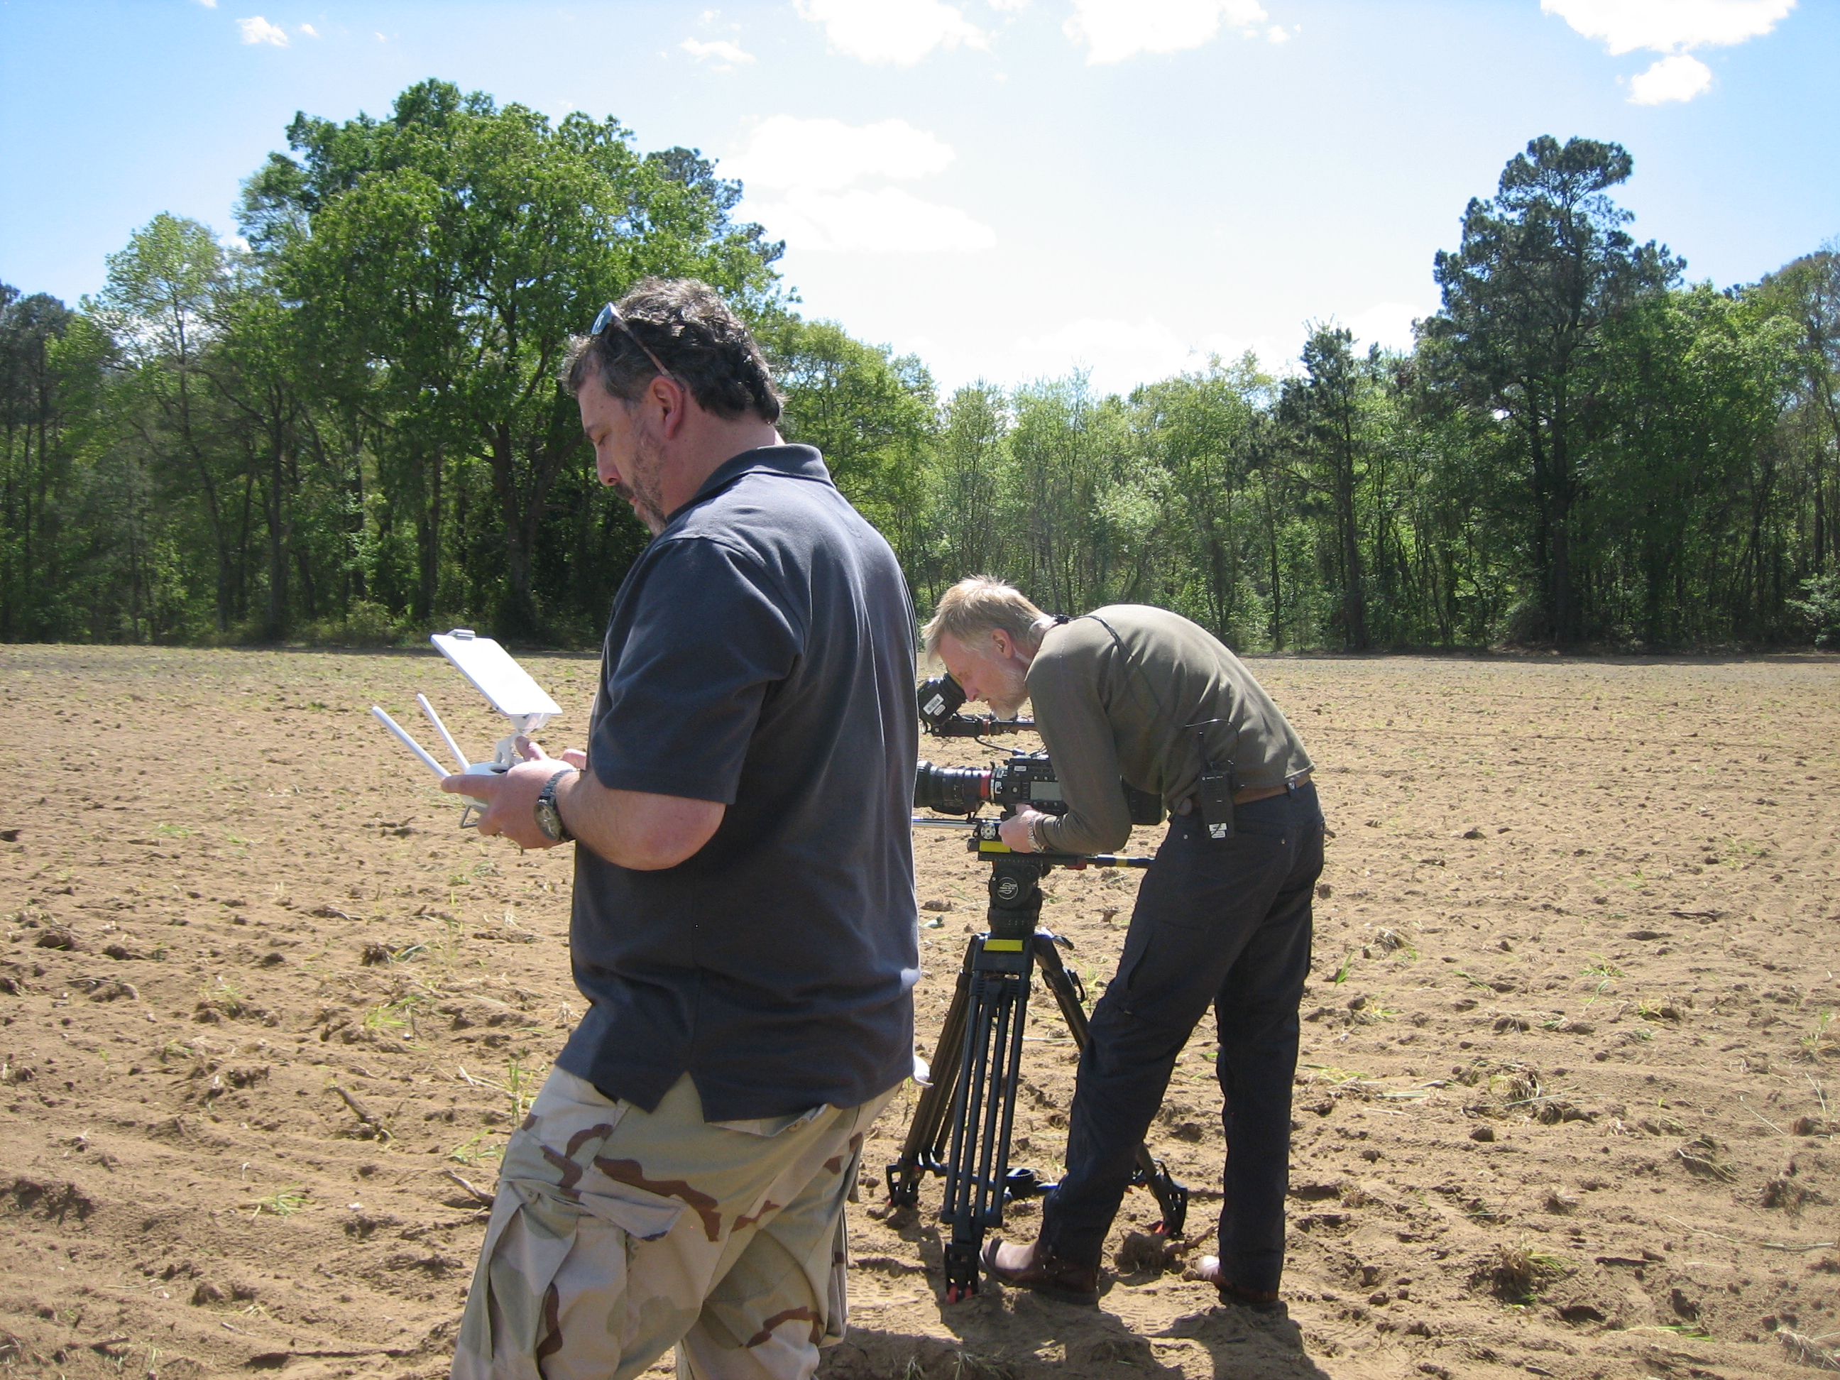
[[[1220,1257],[1198,1273],[1227,1301],[1277,1308],[1297,1001],[1323,870],[1323,815],[1301,740],[1238,657],[1165,609],[1121,604],[1051,618],[973,576],[940,598],[926,642],[966,699],[1003,716],[1034,705],[1067,811],[1019,810],[1001,826],[1010,848],[1122,846],[1121,778],[1170,811],[1117,975],[1093,1008],[1067,1174],[1045,1203],[1040,1240],[992,1240],[986,1270],[1051,1297],[1097,1301],[1137,1144],[1213,1005],[1227,1168]]]

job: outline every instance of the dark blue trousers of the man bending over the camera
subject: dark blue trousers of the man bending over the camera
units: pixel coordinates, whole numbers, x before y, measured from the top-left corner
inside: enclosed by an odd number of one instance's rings
[[[1238,806],[1235,824],[1235,837],[1211,839],[1198,815],[1176,815],[1137,891],[1080,1054],[1067,1174],[1043,1209],[1041,1246],[1064,1260],[1098,1264],[1176,1054],[1213,1005],[1227,1133],[1222,1279],[1275,1290],[1284,1271],[1297,1001],[1323,811],[1303,786]]]

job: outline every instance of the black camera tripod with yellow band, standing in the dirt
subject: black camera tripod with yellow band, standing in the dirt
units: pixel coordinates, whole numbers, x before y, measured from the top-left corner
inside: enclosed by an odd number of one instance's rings
[[[951,1240],[946,1244],[949,1303],[977,1294],[977,1257],[984,1229],[1003,1225],[1003,1205],[1054,1187],[1043,1183],[1034,1170],[1010,1168],[1029,975],[1036,964],[1054,994],[1073,1043],[1086,1049],[1086,1008],[1080,1005],[1086,994],[1062,964],[1056,948],[1067,940],[1038,929],[1041,878],[1054,867],[1150,865],[1148,857],[1016,854],[997,837],[997,821],[975,819],[970,824],[972,850],[992,865],[986,913],[990,931],[973,935],[964,949],[959,986],[951,994],[938,1049],[933,1052],[933,1084],[914,1108],[902,1157],[889,1165],[889,1198],[896,1207],[918,1205],[920,1179],[926,1174],[946,1179],[940,1220],[951,1225]],[[1132,1183],[1156,1194],[1163,1209],[1157,1231],[1179,1236],[1189,1213],[1189,1190],[1144,1146],[1137,1146]]]

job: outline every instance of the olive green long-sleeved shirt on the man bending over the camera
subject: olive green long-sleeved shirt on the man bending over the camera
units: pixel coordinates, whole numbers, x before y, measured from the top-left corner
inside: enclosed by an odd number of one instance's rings
[[[1054,852],[1124,846],[1130,811],[1119,780],[1174,808],[1202,778],[1203,729],[1213,765],[1233,764],[1235,789],[1282,786],[1310,771],[1303,740],[1253,673],[1216,637],[1167,609],[1113,604],[1051,627],[1029,666],[1036,729],[1067,799],[1041,824]]]

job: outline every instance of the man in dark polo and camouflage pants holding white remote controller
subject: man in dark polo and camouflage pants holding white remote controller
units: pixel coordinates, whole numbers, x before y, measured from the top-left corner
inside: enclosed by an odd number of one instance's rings
[[[802,1380],[913,1069],[913,609],[708,287],[609,304],[567,383],[655,535],[587,753],[447,778],[480,834],[576,841],[591,1003],[506,1146],[454,1376],[622,1380],[675,1345],[679,1374]]]

